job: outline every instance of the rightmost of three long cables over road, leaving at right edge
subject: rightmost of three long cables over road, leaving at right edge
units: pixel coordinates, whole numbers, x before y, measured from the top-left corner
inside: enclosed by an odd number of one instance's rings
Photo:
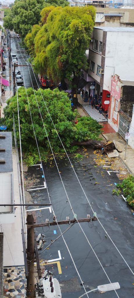
[[[21,42],[21,45],[22,45],[22,42]],[[23,46],[22,46],[22,48],[23,48]],[[24,59],[24,58],[23,58],[23,59]],[[25,59],[24,59],[24,61],[25,61]],[[26,61],[25,61],[25,62],[26,62]],[[28,63],[27,63],[27,64],[28,64]],[[29,64],[30,64],[30,66],[31,66],[31,68],[32,68],[31,63],[29,63]],[[32,71],[33,71],[33,68],[32,68]],[[33,71],[33,74],[34,74],[34,76],[35,76],[34,71]],[[36,80],[36,77],[35,77],[35,80]],[[37,86],[38,86],[38,82],[37,82],[37,80],[36,80],[36,83],[37,83]],[[39,88],[39,86],[38,86],[38,88]],[[39,91],[40,91],[40,88],[39,88]],[[40,91],[40,94],[41,94],[41,96],[42,96],[42,98],[43,98],[43,95],[42,95],[41,91]],[[44,101],[44,103],[45,103],[44,98],[43,98],[43,101]],[[46,103],[45,103],[45,106],[46,106]],[[48,110],[47,106],[46,106],[46,109],[47,109],[47,111],[48,111],[49,117],[50,117],[50,119],[51,119],[51,121],[52,121],[52,124],[53,124],[53,126],[54,126],[54,129],[55,129],[55,131],[56,131],[56,133],[57,133],[57,136],[58,136],[59,139],[60,139],[61,145],[63,146],[63,149],[65,150],[65,153],[66,153],[66,156],[68,157],[68,160],[69,160],[69,162],[70,162],[70,164],[71,164],[71,167],[72,167],[72,169],[73,169],[73,171],[74,171],[74,173],[75,173],[75,176],[76,176],[76,178],[77,178],[77,180],[78,180],[78,182],[79,182],[79,184],[80,184],[80,187],[82,188],[82,191],[83,191],[83,193],[84,193],[84,195],[85,195],[85,198],[87,199],[88,204],[90,205],[90,207],[91,207],[91,209],[92,209],[92,211],[93,211],[93,213],[94,213],[94,210],[93,210],[93,208],[92,208],[92,206],[91,206],[91,204],[90,204],[90,201],[88,200],[88,197],[87,197],[87,195],[86,195],[86,193],[85,193],[85,191],[84,191],[84,189],[83,189],[83,187],[82,187],[82,184],[81,184],[81,182],[80,182],[80,180],[79,180],[79,178],[78,178],[78,176],[77,176],[77,173],[76,173],[75,170],[74,170],[74,166],[72,165],[71,160],[70,160],[70,158],[69,158],[69,156],[68,156],[68,153],[66,152],[66,149],[65,149],[65,147],[64,147],[64,145],[63,145],[63,142],[62,142],[62,140],[61,140],[61,138],[60,138],[60,136],[59,136],[59,134],[58,134],[58,132],[57,132],[57,129],[56,129],[55,125],[54,125],[54,122],[53,122],[53,120],[52,120],[52,117],[51,117],[51,115],[50,115],[50,113],[49,113],[49,110]],[[90,194],[89,194],[89,195],[90,195]],[[90,195],[90,196],[91,196],[91,195]],[[130,269],[130,271],[131,271],[131,272],[133,273],[133,275],[134,275],[134,272],[132,271],[132,269],[130,268],[130,266],[128,265],[128,263],[126,262],[126,260],[124,259],[124,257],[122,256],[121,252],[119,251],[119,249],[117,248],[117,246],[116,246],[116,244],[113,242],[113,240],[111,239],[110,235],[109,235],[109,234],[107,233],[107,231],[105,230],[105,228],[104,228],[104,226],[102,225],[101,221],[99,220],[99,218],[98,218],[97,216],[96,216],[96,218],[97,218],[97,220],[99,221],[99,224],[100,224],[100,225],[102,226],[102,228],[104,229],[104,231],[105,231],[105,233],[107,234],[107,236],[109,237],[109,239],[111,240],[111,242],[113,243],[113,245],[115,246],[115,248],[117,249],[117,251],[119,252],[119,254],[120,254],[120,256],[122,257],[122,259],[123,259],[124,262],[126,263],[127,267]]]

